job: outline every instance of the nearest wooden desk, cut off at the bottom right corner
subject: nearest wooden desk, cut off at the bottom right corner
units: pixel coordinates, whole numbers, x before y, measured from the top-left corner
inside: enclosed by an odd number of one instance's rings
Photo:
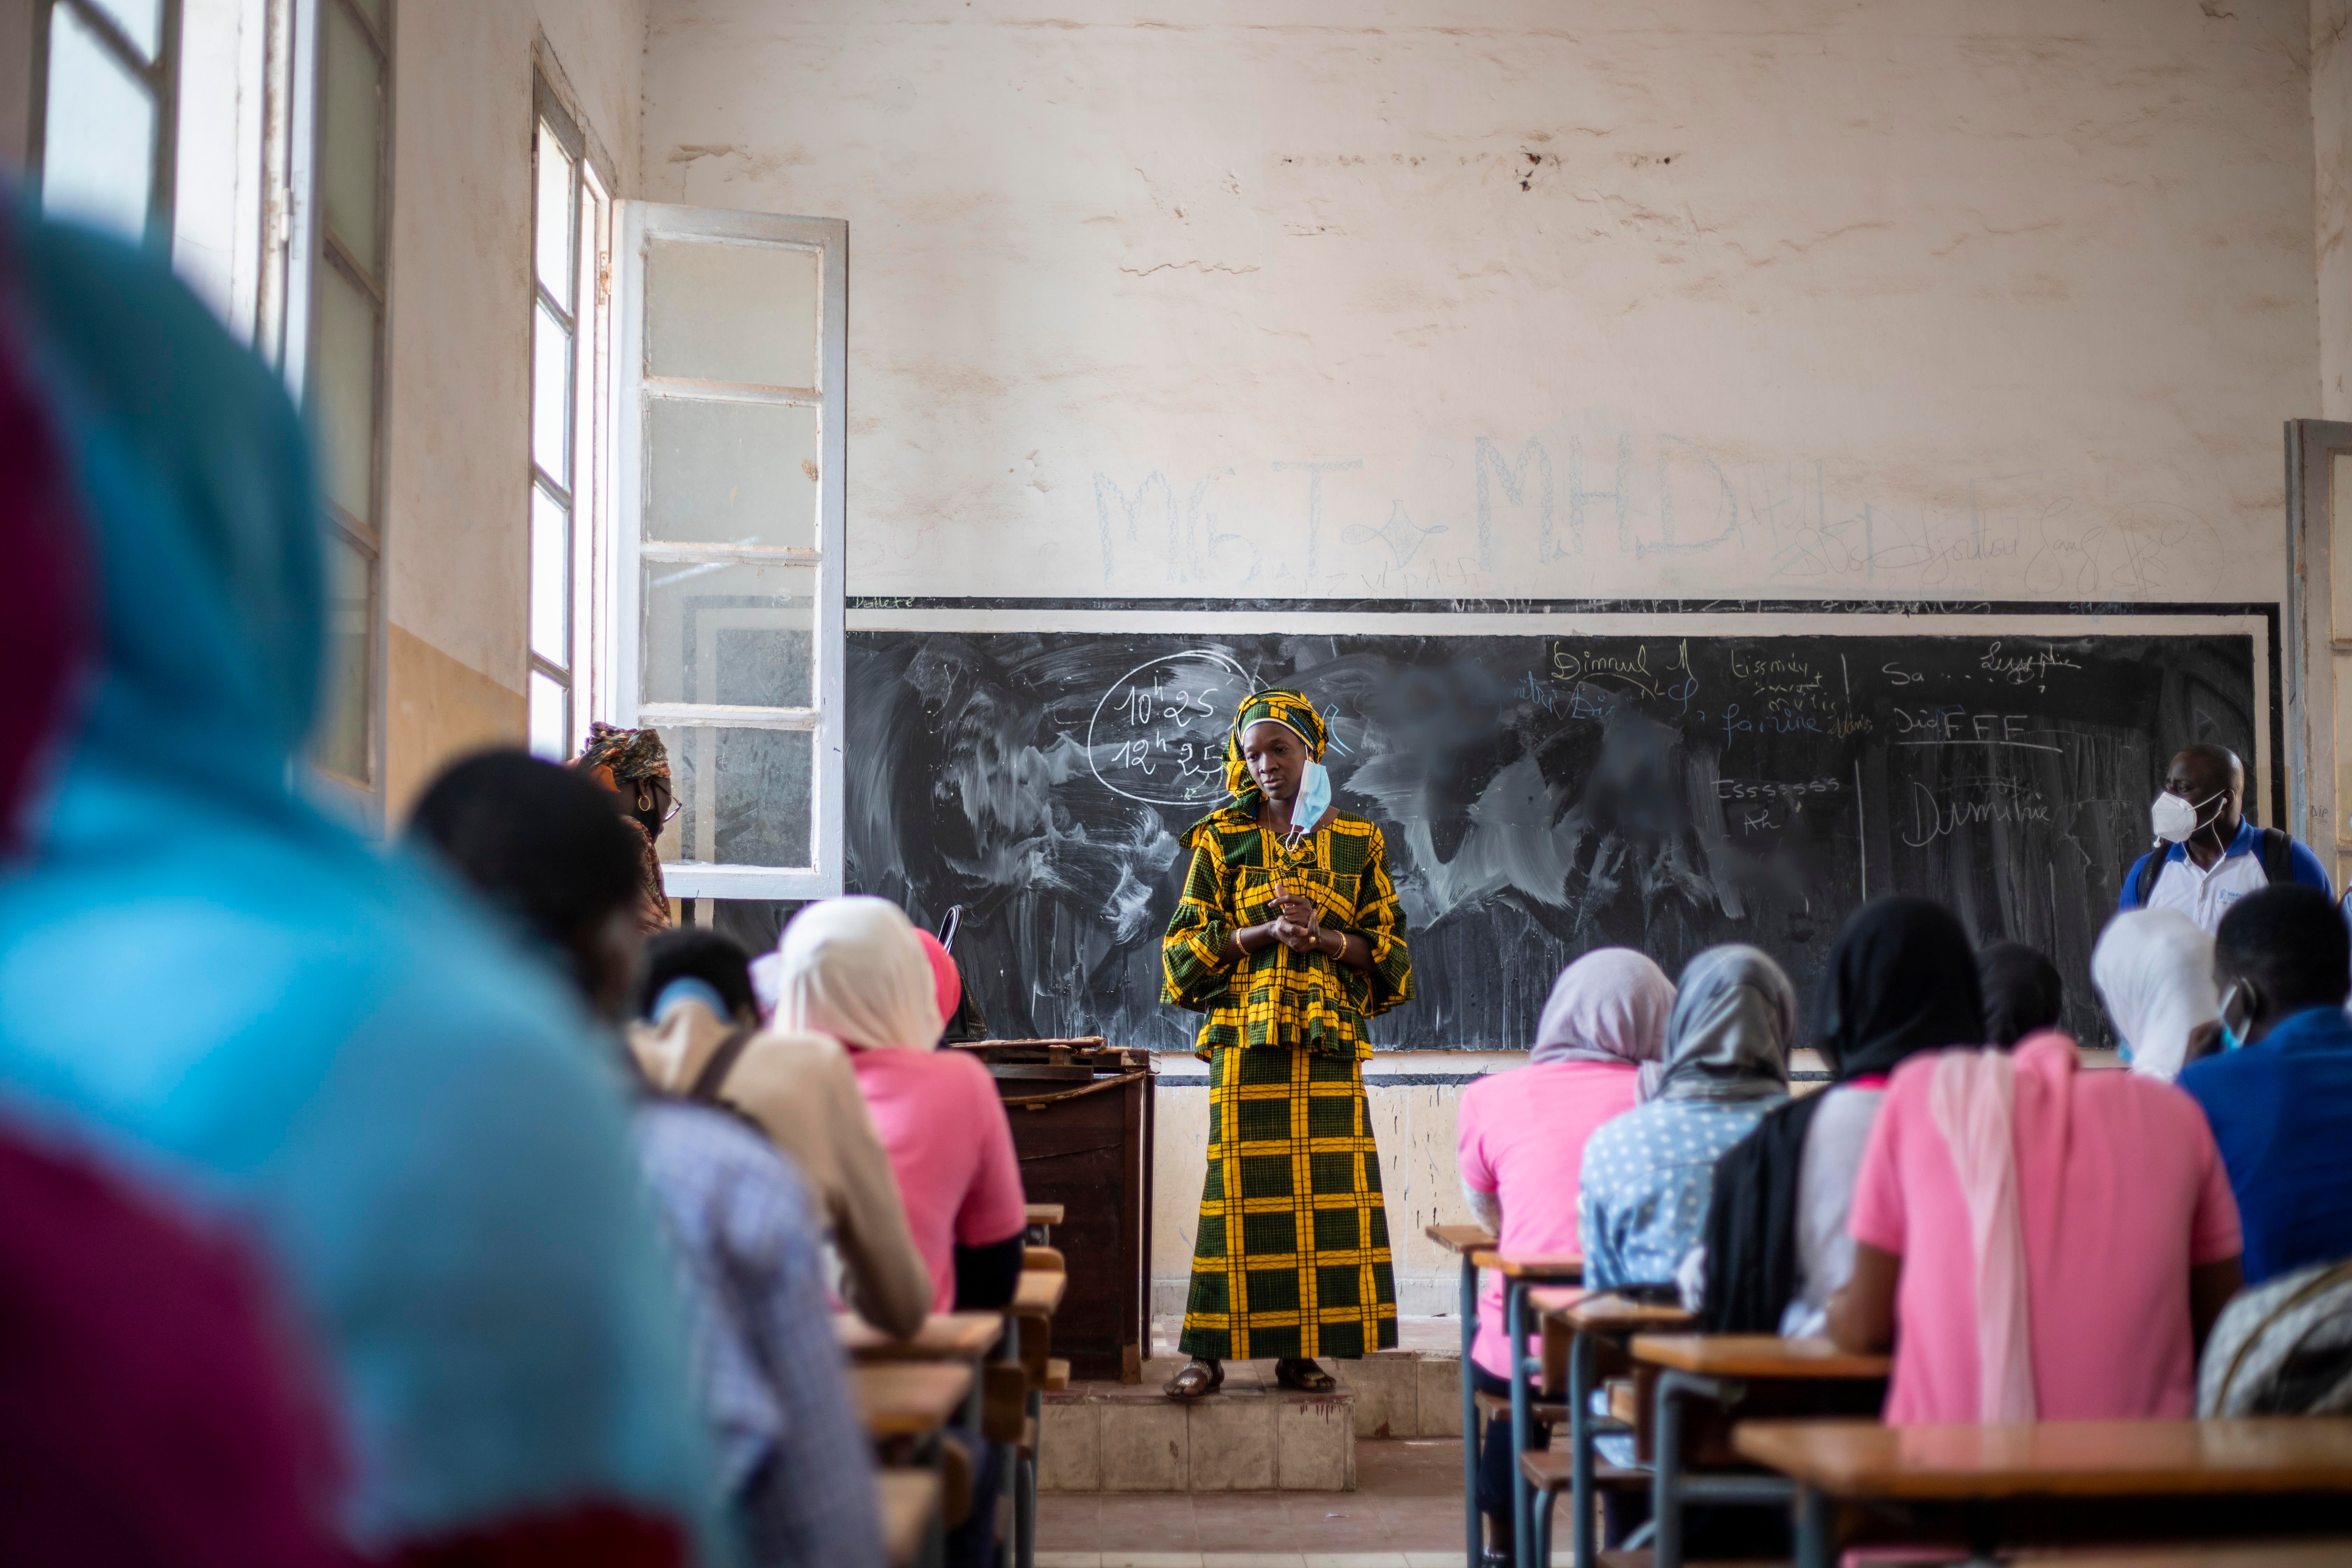
[[[1971,1544],[1999,1533],[2004,1505],[2129,1500],[2173,1533],[2244,1535],[2251,1495],[2352,1493],[2352,1418],[2096,1420],[2004,1427],[1740,1422],[1733,1446],[1799,1493],[1797,1563],[1835,1559],[1839,1502],[1962,1505]],[[2237,1507],[2232,1507],[2237,1505]],[[2277,1507],[2267,1509],[2281,1526]],[[2260,1526],[2256,1526],[2260,1528]],[[2326,1526],[2324,1526],[2326,1528]]]

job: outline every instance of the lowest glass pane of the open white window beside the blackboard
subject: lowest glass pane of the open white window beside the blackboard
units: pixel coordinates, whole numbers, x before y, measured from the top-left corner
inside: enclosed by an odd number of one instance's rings
[[[670,726],[661,743],[682,806],[673,823],[680,860],[809,865],[809,731]]]

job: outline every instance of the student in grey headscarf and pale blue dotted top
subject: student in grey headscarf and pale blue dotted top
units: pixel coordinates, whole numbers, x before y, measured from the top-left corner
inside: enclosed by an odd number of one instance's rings
[[[1788,1100],[1797,990],[1755,947],[1682,971],[1651,1100],[1592,1133],[1578,1194],[1585,1284],[1675,1279],[1708,1222],[1715,1161]]]

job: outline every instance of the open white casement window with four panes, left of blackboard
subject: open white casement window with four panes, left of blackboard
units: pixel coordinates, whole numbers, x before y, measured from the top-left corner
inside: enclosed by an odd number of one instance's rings
[[[842,891],[849,226],[621,205],[623,724],[670,752],[673,898]]]

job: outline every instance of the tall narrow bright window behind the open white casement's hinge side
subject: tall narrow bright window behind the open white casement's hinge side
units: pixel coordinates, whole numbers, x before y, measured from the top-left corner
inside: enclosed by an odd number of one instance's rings
[[[588,729],[581,576],[595,489],[597,261],[604,190],[541,87],[532,141],[529,733],[564,762]]]

